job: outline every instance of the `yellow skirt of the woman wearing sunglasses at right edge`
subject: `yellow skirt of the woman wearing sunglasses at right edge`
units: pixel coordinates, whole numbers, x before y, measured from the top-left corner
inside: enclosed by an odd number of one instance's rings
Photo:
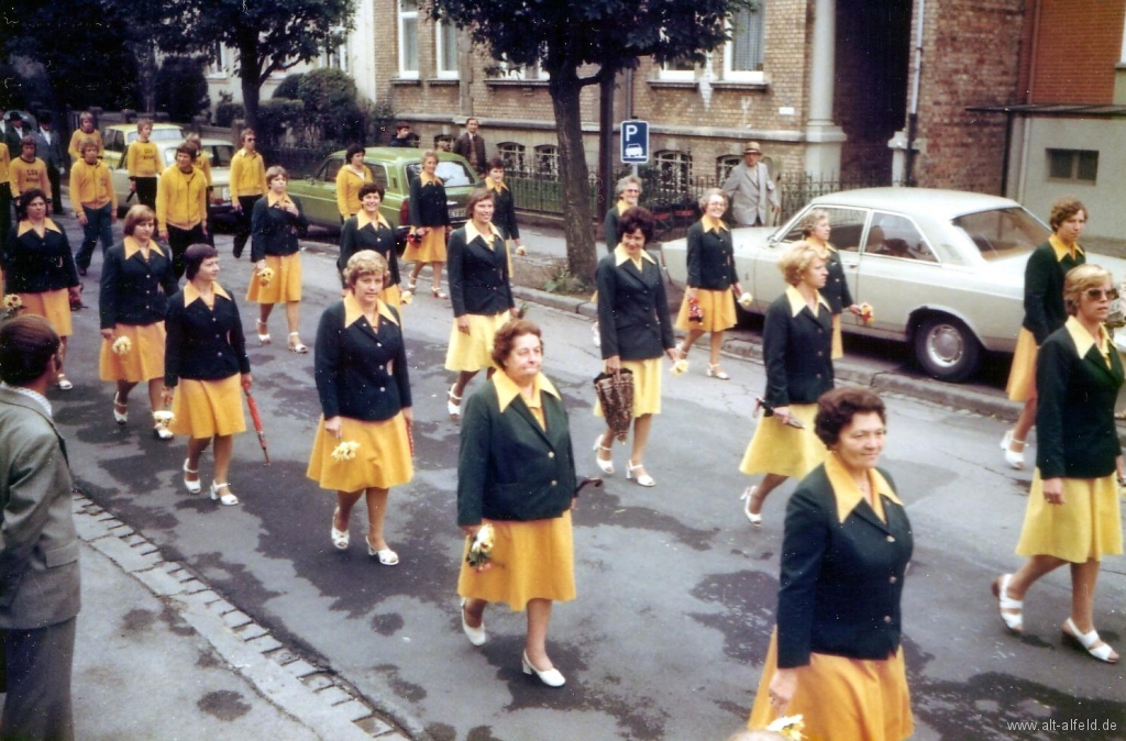
[[[1083,563],[1123,552],[1115,474],[1101,479],[1064,479],[1063,498],[1063,505],[1049,505],[1044,499],[1044,484],[1037,468],[1028,492],[1017,555],[1051,555]]]

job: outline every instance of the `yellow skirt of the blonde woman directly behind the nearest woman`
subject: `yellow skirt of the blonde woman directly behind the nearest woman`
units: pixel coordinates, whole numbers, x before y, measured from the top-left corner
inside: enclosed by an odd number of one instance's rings
[[[813,434],[813,419],[817,416],[816,404],[790,404],[789,412],[805,425],[804,430],[783,425],[777,417],[759,414],[759,426],[754,430],[739,471],[752,476],[757,473],[774,473],[779,476],[804,479],[825,462],[825,444]]]

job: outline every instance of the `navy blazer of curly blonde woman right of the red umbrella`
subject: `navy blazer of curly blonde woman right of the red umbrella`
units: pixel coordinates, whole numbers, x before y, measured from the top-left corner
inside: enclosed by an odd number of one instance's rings
[[[410,407],[406,345],[395,309],[381,304],[377,327],[350,294],[324,310],[313,374],[325,419],[383,421]]]

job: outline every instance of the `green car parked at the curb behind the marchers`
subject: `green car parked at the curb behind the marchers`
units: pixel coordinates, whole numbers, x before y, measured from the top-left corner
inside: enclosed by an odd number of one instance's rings
[[[364,150],[364,164],[372,170],[375,182],[383,186],[385,194],[379,213],[395,230],[395,241],[402,250],[410,229],[411,182],[422,171],[422,150],[395,146],[369,146]],[[289,195],[301,199],[305,216],[311,224],[324,229],[340,229],[340,211],[337,208],[337,173],[345,164],[345,151],[333,152],[305,179],[289,180]],[[482,180],[464,157],[450,152],[438,152],[437,175],[446,184],[449,220],[454,226],[465,223],[465,203]]]

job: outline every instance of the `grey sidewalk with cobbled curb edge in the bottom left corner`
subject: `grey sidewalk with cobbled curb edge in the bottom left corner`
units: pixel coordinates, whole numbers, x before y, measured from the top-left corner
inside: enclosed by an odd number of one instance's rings
[[[196,574],[75,494],[83,741],[408,741],[329,669],[287,649]]]

